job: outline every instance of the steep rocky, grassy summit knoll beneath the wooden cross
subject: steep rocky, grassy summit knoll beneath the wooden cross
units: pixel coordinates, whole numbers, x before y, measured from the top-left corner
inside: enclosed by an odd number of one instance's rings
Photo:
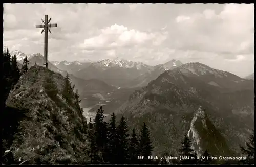
[[[82,110],[61,95],[64,78],[41,66],[32,66],[9,94],[7,106],[27,110],[19,122],[10,150],[26,164],[84,164],[87,123]]]

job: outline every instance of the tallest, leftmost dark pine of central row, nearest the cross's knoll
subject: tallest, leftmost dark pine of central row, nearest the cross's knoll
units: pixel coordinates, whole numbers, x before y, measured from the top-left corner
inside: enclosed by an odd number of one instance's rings
[[[94,127],[95,127],[95,137],[96,137],[96,145],[99,150],[100,160],[101,162],[105,162],[104,159],[107,159],[108,155],[105,153],[105,149],[107,147],[107,127],[106,122],[104,121],[104,110],[102,106],[98,109],[97,114],[94,119]]]

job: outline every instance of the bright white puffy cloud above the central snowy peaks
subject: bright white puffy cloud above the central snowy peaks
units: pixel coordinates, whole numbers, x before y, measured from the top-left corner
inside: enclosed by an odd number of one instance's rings
[[[143,45],[160,45],[166,39],[159,32],[141,32],[128,29],[123,25],[112,25],[101,29],[99,34],[87,39],[79,46],[83,49],[116,49],[117,47],[134,47]]]

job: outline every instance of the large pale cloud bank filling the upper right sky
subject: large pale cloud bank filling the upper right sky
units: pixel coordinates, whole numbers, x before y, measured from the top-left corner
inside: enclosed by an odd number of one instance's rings
[[[191,16],[178,16],[178,30],[184,32],[176,47],[190,50],[201,50],[216,53],[229,52],[236,54],[253,52],[254,33],[253,5],[225,4],[219,14],[206,9]],[[185,32],[186,31],[186,32]],[[179,41],[180,40],[180,41]]]

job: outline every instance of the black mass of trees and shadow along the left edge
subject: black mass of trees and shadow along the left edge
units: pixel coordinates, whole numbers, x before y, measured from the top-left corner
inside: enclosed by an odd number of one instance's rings
[[[9,48],[4,48],[2,53],[2,75],[1,75],[1,133],[2,133],[2,156],[4,151],[10,148],[14,133],[17,131],[18,122],[22,118],[26,117],[23,111],[6,106],[6,100],[8,99],[10,91],[14,88],[14,85],[18,82],[20,76],[28,71],[28,59],[23,60],[22,68],[18,68],[18,62],[16,55],[11,56]],[[1,156],[1,158],[3,158]],[[2,159],[3,160],[3,159]]]

